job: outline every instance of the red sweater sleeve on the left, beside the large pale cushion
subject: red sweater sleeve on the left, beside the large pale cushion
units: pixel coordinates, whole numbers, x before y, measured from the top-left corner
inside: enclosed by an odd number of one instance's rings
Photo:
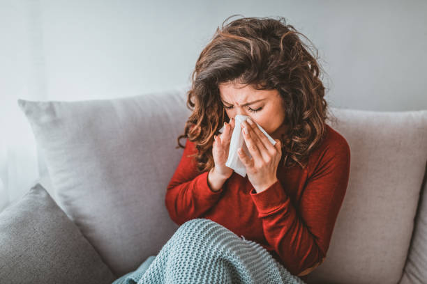
[[[195,143],[186,141],[181,161],[172,176],[165,196],[165,205],[172,221],[179,226],[207,212],[222,195],[223,188],[213,191],[208,184],[208,173],[199,173],[195,157]]]

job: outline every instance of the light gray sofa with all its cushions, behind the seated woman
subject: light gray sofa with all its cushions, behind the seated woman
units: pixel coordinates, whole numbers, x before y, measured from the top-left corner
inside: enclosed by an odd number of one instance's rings
[[[189,86],[111,100],[18,100],[42,172],[0,214],[0,283],[111,283],[179,228],[165,191]],[[307,283],[427,283],[427,110],[331,108],[352,161],[326,260]],[[181,140],[185,144],[185,140]]]

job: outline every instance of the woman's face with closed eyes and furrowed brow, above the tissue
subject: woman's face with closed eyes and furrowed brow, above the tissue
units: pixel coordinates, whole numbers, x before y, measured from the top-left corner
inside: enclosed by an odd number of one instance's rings
[[[273,139],[284,132],[285,110],[278,90],[256,90],[243,84],[220,84],[220,97],[229,118],[249,116]]]

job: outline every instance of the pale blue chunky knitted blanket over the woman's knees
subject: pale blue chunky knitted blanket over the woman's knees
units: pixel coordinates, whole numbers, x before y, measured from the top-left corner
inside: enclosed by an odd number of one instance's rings
[[[112,284],[305,284],[256,242],[210,219],[183,223],[160,250]]]

